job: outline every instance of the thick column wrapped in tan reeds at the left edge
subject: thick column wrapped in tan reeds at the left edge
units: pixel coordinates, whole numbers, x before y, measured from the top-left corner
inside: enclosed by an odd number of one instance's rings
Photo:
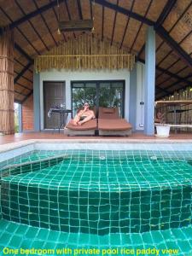
[[[0,132],[15,133],[14,35],[9,30],[0,36]]]

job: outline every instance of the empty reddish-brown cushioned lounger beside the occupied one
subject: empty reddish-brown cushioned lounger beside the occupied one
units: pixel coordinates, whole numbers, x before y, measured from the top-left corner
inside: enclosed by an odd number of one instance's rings
[[[132,126],[119,117],[118,108],[99,108],[99,135],[128,136]]]

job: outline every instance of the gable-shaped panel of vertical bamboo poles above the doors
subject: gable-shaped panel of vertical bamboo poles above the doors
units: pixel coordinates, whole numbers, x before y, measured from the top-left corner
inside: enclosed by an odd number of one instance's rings
[[[109,41],[84,34],[35,58],[36,72],[56,69],[132,69],[135,56]]]

